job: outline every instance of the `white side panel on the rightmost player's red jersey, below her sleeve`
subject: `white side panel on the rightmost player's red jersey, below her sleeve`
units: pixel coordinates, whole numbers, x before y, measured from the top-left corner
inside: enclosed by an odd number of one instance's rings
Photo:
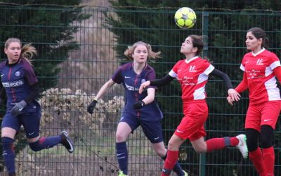
[[[272,77],[264,83],[268,92],[268,101],[280,100],[280,91],[277,88],[276,79]]]

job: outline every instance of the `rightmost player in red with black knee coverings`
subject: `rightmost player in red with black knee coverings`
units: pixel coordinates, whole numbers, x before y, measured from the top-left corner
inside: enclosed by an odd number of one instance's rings
[[[245,131],[249,158],[261,176],[274,175],[273,130],[281,108],[280,90],[275,78],[281,81],[280,60],[265,49],[267,45],[266,32],[261,28],[248,30],[246,46],[251,52],[242,59],[240,69],[244,75],[242,82],[235,88],[239,93],[249,89]],[[233,99],[229,97],[228,102],[233,104]]]

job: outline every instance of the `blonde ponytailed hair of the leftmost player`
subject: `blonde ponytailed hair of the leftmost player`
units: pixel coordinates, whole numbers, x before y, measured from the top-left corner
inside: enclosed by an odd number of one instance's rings
[[[21,52],[20,52],[20,56],[21,58],[25,59],[25,61],[27,61],[27,63],[30,63],[30,65],[32,65],[32,57],[37,55],[37,50],[35,49],[34,46],[32,46],[31,44],[25,44],[24,46],[22,46],[22,42],[20,42],[20,39],[18,38],[9,38],[6,40],[5,42],[5,49],[8,49],[8,46],[12,43],[12,42],[17,42],[20,44],[21,47]]]

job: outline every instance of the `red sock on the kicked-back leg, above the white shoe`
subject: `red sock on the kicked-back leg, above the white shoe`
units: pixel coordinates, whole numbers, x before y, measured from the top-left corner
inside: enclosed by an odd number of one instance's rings
[[[224,149],[226,146],[237,146],[239,140],[236,137],[221,137],[207,140],[207,152]]]

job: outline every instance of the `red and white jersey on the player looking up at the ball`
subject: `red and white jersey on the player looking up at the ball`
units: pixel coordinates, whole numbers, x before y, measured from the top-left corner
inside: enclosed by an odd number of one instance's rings
[[[205,85],[213,70],[214,66],[209,61],[195,56],[178,61],[169,75],[180,82],[183,101],[203,100],[207,96]]]

